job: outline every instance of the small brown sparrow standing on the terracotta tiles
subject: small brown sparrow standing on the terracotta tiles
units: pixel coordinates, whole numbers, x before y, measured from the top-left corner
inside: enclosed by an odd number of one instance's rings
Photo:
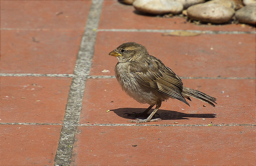
[[[166,67],[158,58],[149,55],[146,47],[138,43],[124,43],[108,55],[115,56],[118,60],[115,75],[122,90],[137,102],[150,105],[144,112],[126,114],[147,115],[148,111],[156,105],[148,118],[128,120],[128,122],[162,121],[160,118],[152,119],[152,117],[161,107],[162,102],[169,98],[178,99],[188,106],[190,105],[186,99],[191,101],[190,97],[204,101],[213,107],[217,104],[217,98],[184,87],[180,77],[172,69]]]

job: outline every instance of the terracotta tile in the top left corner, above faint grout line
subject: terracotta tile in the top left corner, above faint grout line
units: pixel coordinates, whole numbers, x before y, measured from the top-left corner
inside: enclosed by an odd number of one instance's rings
[[[1,28],[83,30],[90,5],[91,1],[1,1]]]

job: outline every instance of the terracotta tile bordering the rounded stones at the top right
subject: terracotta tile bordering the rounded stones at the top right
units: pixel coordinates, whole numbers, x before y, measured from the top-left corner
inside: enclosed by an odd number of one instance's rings
[[[195,25],[185,18],[162,18],[136,14],[131,5],[117,1],[104,1],[99,29],[175,29],[175,30],[212,30],[212,31],[255,31],[249,25]]]

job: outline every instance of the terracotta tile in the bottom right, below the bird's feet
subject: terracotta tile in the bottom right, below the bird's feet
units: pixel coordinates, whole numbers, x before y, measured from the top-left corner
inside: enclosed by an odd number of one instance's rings
[[[256,162],[253,126],[80,126],[78,129],[74,165],[254,165]]]

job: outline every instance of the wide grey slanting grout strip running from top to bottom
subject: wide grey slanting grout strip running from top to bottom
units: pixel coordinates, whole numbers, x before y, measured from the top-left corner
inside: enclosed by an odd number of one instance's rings
[[[99,25],[102,3],[103,1],[99,0],[92,1],[86,21],[80,50],[77,54],[74,77],[70,85],[58,149],[54,158],[56,166],[70,165],[71,163],[75,134],[77,132],[77,125],[82,109],[85,82],[90,73],[94,54],[94,45],[97,35],[94,29],[97,29]]]

